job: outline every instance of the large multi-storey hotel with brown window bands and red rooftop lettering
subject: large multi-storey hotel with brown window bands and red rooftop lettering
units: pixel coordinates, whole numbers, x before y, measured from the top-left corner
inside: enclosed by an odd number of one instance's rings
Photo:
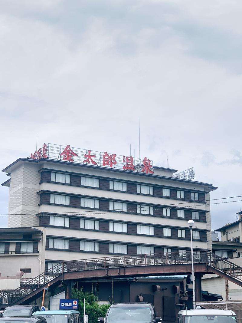
[[[2,184],[9,186],[9,220],[0,229],[2,276],[15,275],[18,267],[34,277],[63,260],[171,252],[182,257],[190,249],[189,219],[195,221],[195,255],[212,249],[206,201],[216,187],[173,177],[176,170],[146,158],[94,155],[48,144],[43,154],[3,170],[9,176]]]

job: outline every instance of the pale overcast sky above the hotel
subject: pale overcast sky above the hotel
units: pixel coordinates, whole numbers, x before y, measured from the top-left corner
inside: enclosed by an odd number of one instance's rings
[[[195,167],[242,195],[242,2],[0,0],[1,169],[43,143]],[[7,179],[1,172],[1,183]],[[236,198],[232,200],[242,200]],[[215,201],[220,202],[220,201]],[[221,201],[224,202],[224,201]],[[212,229],[242,202],[211,205]],[[8,188],[0,187],[0,213]],[[1,217],[0,226],[7,226]]]

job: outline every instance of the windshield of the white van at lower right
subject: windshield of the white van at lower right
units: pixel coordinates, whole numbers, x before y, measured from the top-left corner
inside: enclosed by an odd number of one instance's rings
[[[237,320],[233,315],[188,315],[184,323],[237,323]]]

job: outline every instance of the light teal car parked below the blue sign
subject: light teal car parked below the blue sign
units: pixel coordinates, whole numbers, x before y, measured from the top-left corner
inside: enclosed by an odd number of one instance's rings
[[[73,310],[37,311],[32,316],[42,316],[47,323],[81,323],[80,313]]]

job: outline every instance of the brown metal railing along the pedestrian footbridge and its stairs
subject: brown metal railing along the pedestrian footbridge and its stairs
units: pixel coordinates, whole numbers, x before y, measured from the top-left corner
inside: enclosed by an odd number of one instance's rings
[[[228,276],[239,279],[242,276],[242,268],[225,260],[209,251],[201,252],[194,255],[194,263],[205,263],[220,271],[223,271]],[[53,281],[56,277],[62,276],[64,273],[75,271],[86,271],[95,269],[109,268],[125,268],[136,266],[164,266],[164,265],[182,265],[191,264],[191,252],[186,254],[179,253],[162,253],[156,255],[123,255],[115,257],[103,257],[92,259],[81,259],[75,261],[62,262],[48,269],[39,276],[29,280],[21,287],[12,292],[0,292],[1,304],[14,304],[21,298],[30,295],[40,287],[44,287],[47,283]],[[148,275],[149,272],[147,271]],[[242,279],[240,279],[242,281]]]

